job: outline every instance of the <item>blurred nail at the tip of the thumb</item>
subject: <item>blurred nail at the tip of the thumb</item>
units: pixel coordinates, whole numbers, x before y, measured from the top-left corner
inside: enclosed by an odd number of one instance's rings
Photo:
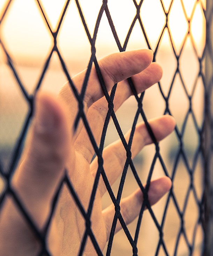
[[[36,103],[35,126],[39,133],[52,132],[57,126],[57,116],[51,105],[45,99],[39,99]]]

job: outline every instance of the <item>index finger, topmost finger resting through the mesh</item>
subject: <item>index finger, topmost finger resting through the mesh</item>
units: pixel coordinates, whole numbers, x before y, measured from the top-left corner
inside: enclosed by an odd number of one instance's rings
[[[115,83],[131,77],[134,74],[138,74],[142,70],[146,69],[152,62],[152,59],[153,52],[147,49],[119,52],[101,59],[98,62],[98,65],[100,66],[107,91],[109,92]],[[78,93],[81,92],[86,72],[87,70],[72,78]],[[95,101],[103,96],[103,90],[100,85],[95,66],[93,65],[83,99],[85,103],[85,113],[87,113],[88,108]],[[71,125],[73,125],[76,114],[78,113],[78,102],[76,101],[69,83],[66,83],[63,88],[61,88],[59,97],[66,102],[70,112]],[[80,129],[78,129],[77,133],[79,131]]]

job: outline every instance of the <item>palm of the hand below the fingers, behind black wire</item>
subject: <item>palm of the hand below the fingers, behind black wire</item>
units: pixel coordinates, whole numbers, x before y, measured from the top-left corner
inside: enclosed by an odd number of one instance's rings
[[[72,177],[72,180],[78,180],[73,183],[73,187],[81,200],[81,204],[85,211],[88,209],[91,191],[93,189],[94,177],[89,170],[89,164],[86,159],[76,153],[76,166],[75,170],[78,173],[78,177]],[[80,163],[80,165],[78,164]],[[68,168],[69,170],[69,168]],[[85,186],[86,180],[86,186]],[[80,244],[85,234],[85,220],[82,213],[75,201],[72,199],[70,193],[65,189],[61,197],[61,204],[57,209],[58,222],[57,230],[63,229],[63,237],[61,241],[62,255],[78,255],[80,250]],[[99,191],[96,193],[95,201],[93,204],[93,212],[91,215],[91,228],[95,237],[98,237],[98,245],[102,250],[107,242],[107,234],[104,219],[101,209],[101,196]],[[101,234],[101,236],[100,236]],[[58,232],[56,233],[58,235]],[[68,243],[68,244],[67,244]],[[91,243],[91,240],[87,239],[85,247],[85,253],[87,255],[95,255],[95,249]]]

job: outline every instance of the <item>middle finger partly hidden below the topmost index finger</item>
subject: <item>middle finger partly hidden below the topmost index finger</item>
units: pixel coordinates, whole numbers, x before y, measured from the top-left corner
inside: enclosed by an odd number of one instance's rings
[[[150,64],[144,71],[136,74],[132,77],[133,83],[137,93],[145,91],[148,87],[155,84],[160,80],[162,76],[162,69],[157,63]],[[132,95],[132,90],[128,84],[127,80],[118,83],[115,93],[115,98],[113,100],[114,111],[123,104],[123,102]],[[105,121],[105,117],[108,112],[108,102],[105,97],[96,101],[88,110],[87,120],[89,122],[90,128],[93,131],[96,143],[99,144],[102,127]],[[78,152],[87,159],[90,163],[94,155],[94,148],[90,142],[85,128],[82,128],[81,133],[74,143],[74,147]]]

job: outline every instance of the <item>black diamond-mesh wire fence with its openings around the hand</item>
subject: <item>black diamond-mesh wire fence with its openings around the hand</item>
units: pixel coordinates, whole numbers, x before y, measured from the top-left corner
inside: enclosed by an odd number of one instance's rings
[[[17,208],[23,214],[23,218],[26,219],[41,244],[39,253],[41,255],[51,255],[46,245],[46,236],[62,187],[67,187],[76,205],[78,205],[78,211],[85,219],[85,232],[79,247],[79,255],[83,254],[88,239],[92,241],[96,253],[102,255],[96,241],[97,237],[94,236],[90,226],[92,207],[100,177],[103,178],[107,187],[103,207],[106,207],[110,202],[115,205],[109,242],[103,254],[131,255],[133,252],[133,255],[192,255],[202,254],[204,251],[205,255],[211,255],[211,251],[213,251],[211,248],[211,216],[213,215],[211,210],[212,176],[210,172],[212,127],[210,109],[212,40],[210,33],[213,6],[211,1],[207,1],[207,7],[205,7],[205,1],[202,0],[191,1],[190,3],[184,0],[153,0],[151,1],[152,6],[149,2],[146,0],[103,0],[103,2],[90,2],[88,5],[87,1],[68,0],[63,2],[63,5],[58,3],[61,6],[53,8],[58,14],[55,15],[57,19],[51,19],[50,6],[48,9],[48,3],[45,1],[35,0],[21,3],[9,0],[4,1],[1,6],[0,113],[2,116],[2,149],[0,152],[0,175],[2,177],[2,190],[0,205],[1,207],[4,205],[8,195],[12,196]],[[26,9],[20,7],[18,9],[20,15],[16,15],[19,5]],[[51,5],[54,6],[57,3],[52,2]],[[59,13],[58,10],[61,12]],[[75,16],[73,10],[78,16]],[[205,42],[201,40],[204,37],[204,27],[202,27],[202,24],[205,26],[204,14],[207,17],[206,48]],[[24,17],[25,21],[19,21]],[[30,19],[32,21],[36,19],[37,22],[32,23],[34,25],[31,28],[21,27],[21,25],[26,24],[28,19],[29,24],[31,24]],[[119,25],[121,23],[122,26]],[[77,24],[80,24],[81,29],[78,27],[76,30],[80,31],[75,30]],[[40,26],[39,30],[35,29],[36,26]],[[66,30],[65,27],[67,27]],[[25,35],[24,39],[23,33],[28,35],[27,37]],[[30,41],[28,33],[31,33],[32,41]],[[43,36],[40,41],[36,41],[38,34]],[[81,34],[82,37],[80,37]],[[133,37],[136,38],[136,41],[132,39]],[[73,47],[64,43],[63,38],[65,41],[71,42]],[[100,43],[101,38],[106,41],[104,46]],[[16,43],[13,43],[14,40]],[[74,44],[74,41],[78,43]],[[22,49],[21,45],[23,46]],[[43,48],[41,48],[42,45],[44,45]],[[103,48],[105,49],[101,51]],[[134,97],[124,105],[123,112],[115,113],[113,98],[116,94],[117,85],[113,87],[109,95],[97,58],[112,51],[126,51],[135,48],[152,49],[154,61],[163,66],[164,75],[155,88],[150,88],[139,96],[132,80],[128,79]],[[42,54],[37,54],[37,51],[42,51]],[[72,57],[69,59],[67,55],[74,56],[75,51],[78,58],[72,61]],[[24,54],[28,57],[24,58]],[[29,56],[33,57],[33,61]],[[204,80],[205,56],[207,63],[206,81]],[[35,61],[37,64],[34,63],[34,60],[37,60]],[[54,62],[55,60],[56,62]],[[81,64],[78,65],[79,62]],[[93,138],[82,102],[93,63],[109,105],[100,145],[97,145]],[[57,65],[60,67],[56,67]],[[79,93],[76,91],[72,76],[84,67],[88,67],[88,72],[82,91]],[[58,77],[60,77],[59,80]],[[19,162],[24,139],[30,126],[34,97],[38,90],[42,90],[48,83],[54,83],[54,80],[59,85],[62,84],[61,81],[69,81],[71,90],[75,93],[79,104],[75,125],[78,126],[78,123],[83,121],[99,159],[99,165],[88,209],[82,206],[81,198],[78,197],[78,192],[74,190],[74,186],[66,174],[54,197],[46,232],[41,233],[34,221],[31,220],[22,201],[17,197],[10,181]],[[8,90],[10,86],[11,89]],[[49,88],[49,90],[53,89]],[[4,93],[3,96],[2,93]],[[124,113],[130,115],[125,114],[124,117]],[[174,115],[177,126],[174,133],[159,144],[156,142],[147,119],[161,114]],[[109,125],[110,117],[112,118],[111,125]],[[138,157],[132,159],[130,150],[132,141],[131,139],[126,141],[124,133],[128,128],[131,128],[133,136],[135,126],[140,120],[144,120],[146,123],[154,145],[149,146],[140,152]],[[204,143],[204,134],[208,134],[208,143]],[[120,180],[111,188],[103,168],[102,152],[104,143],[109,144],[116,138],[122,140],[127,157]],[[141,164],[144,166],[143,170],[141,170]],[[147,189],[150,180],[160,175],[169,176],[173,186],[161,202],[150,207],[147,200]],[[147,189],[142,185],[145,183],[147,183]],[[141,206],[139,217],[127,227],[119,212],[119,203],[124,195],[130,194],[135,189],[135,186],[140,187],[145,200]],[[144,211],[145,207],[148,208],[147,211]],[[118,221],[121,223],[123,231],[114,237]],[[203,245],[205,245],[204,249]]]

